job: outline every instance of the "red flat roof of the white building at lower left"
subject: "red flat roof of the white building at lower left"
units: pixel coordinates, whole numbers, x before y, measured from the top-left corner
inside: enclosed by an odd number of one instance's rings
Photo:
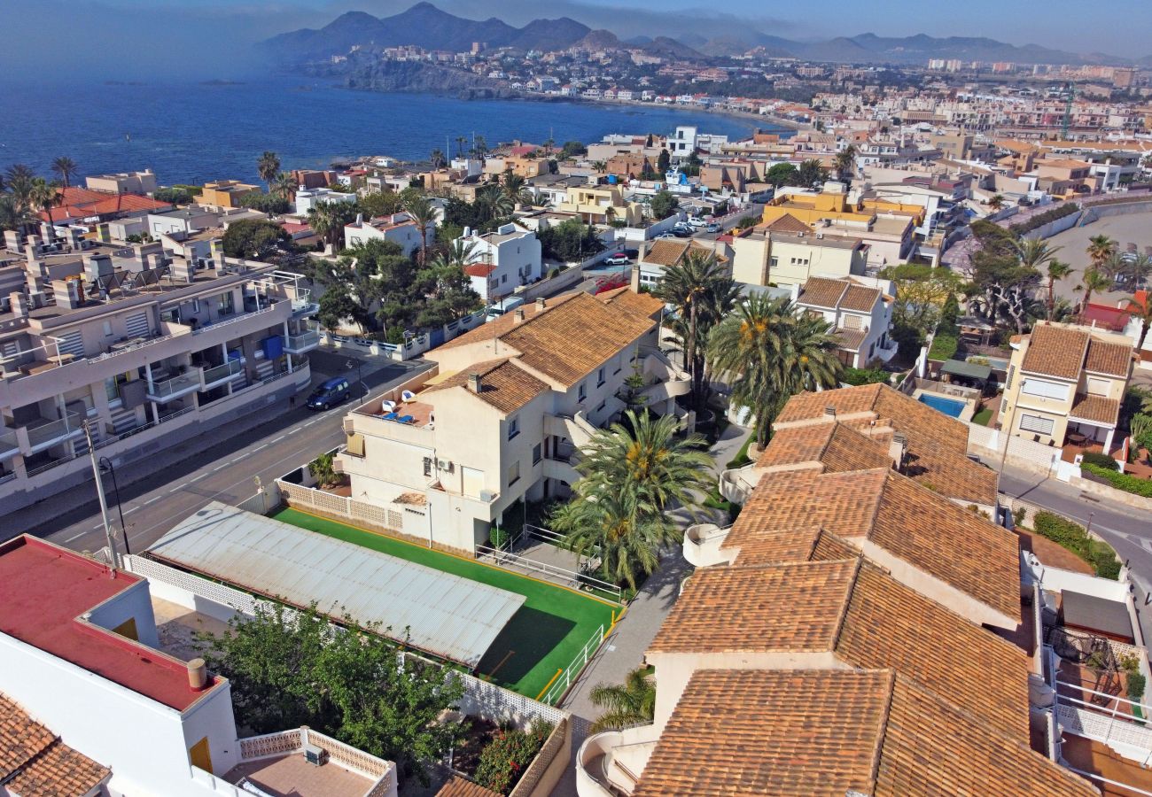
[[[26,534],[0,545],[0,632],[183,711],[209,691],[189,689],[184,662],[79,618],[142,580],[108,572]]]

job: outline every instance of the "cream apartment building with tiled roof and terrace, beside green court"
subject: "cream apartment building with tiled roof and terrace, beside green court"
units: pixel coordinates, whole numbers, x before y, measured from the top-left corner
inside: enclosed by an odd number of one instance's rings
[[[429,351],[439,372],[407,401],[346,417],[335,468],[351,499],[471,555],[514,503],[566,494],[578,448],[624,409],[627,378],[644,378],[646,408],[677,411],[690,386],[657,348],[662,309],[626,288],[537,299]]]

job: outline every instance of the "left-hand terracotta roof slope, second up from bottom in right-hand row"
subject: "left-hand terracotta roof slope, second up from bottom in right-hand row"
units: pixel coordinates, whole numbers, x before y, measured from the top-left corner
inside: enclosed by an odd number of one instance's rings
[[[856,567],[843,561],[702,568],[649,652],[827,651]]]

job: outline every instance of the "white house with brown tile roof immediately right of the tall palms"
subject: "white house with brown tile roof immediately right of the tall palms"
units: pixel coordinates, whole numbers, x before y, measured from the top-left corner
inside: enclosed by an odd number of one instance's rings
[[[847,367],[863,369],[896,355],[892,329],[892,305],[896,287],[889,280],[809,279],[798,291],[796,309],[832,325],[839,348],[836,357]]]

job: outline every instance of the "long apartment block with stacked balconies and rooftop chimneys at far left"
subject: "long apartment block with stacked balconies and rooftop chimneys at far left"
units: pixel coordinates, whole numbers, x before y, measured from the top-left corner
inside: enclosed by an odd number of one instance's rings
[[[91,478],[85,420],[120,464],[309,384],[318,308],[294,274],[160,242],[25,255],[2,268],[15,278],[0,313],[6,507]]]

